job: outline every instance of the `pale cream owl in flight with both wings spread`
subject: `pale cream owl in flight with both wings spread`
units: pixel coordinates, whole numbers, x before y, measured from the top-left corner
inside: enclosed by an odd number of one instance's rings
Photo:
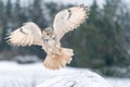
[[[73,7],[60,11],[50,27],[41,30],[32,22],[23,24],[8,36],[8,42],[14,46],[38,45],[47,52],[43,65],[50,70],[58,70],[69,64],[74,55],[73,49],[61,47],[60,40],[69,30],[74,30],[88,17],[88,8]]]

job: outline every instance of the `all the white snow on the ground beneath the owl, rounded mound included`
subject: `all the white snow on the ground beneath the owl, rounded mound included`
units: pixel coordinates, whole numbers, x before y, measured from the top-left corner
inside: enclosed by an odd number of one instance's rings
[[[113,87],[130,87],[130,79],[106,78]],[[51,86],[50,86],[51,85]],[[84,86],[86,85],[86,86]],[[96,86],[95,86],[96,85]],[[0,62],[0,87],[108,87],[100,75],[82,69],[46,70],[42,63]]]

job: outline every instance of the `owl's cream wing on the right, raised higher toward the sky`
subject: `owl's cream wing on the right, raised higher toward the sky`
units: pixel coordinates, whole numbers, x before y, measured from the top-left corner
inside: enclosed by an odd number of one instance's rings
[[[88,17],[88,8],[84,5],[74,7],[58,12],[53,22],[54,32],[61,39],[67,32],[77,28]]]

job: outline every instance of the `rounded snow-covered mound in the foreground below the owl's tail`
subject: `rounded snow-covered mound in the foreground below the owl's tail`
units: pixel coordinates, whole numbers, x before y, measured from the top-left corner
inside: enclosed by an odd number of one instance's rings
[[[68,71],[36,87],[110,87],[103,77],[93,72],[74,69]]]

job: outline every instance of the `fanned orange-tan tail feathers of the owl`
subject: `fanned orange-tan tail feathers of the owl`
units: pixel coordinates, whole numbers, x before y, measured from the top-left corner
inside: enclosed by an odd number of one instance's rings
[[[64,67],[66,64],[69,64],[72,57],[74,55],[73,49],[62,48],[60,49],[60,54],[48,54],[43,65],[50,70],[58,70]]]

